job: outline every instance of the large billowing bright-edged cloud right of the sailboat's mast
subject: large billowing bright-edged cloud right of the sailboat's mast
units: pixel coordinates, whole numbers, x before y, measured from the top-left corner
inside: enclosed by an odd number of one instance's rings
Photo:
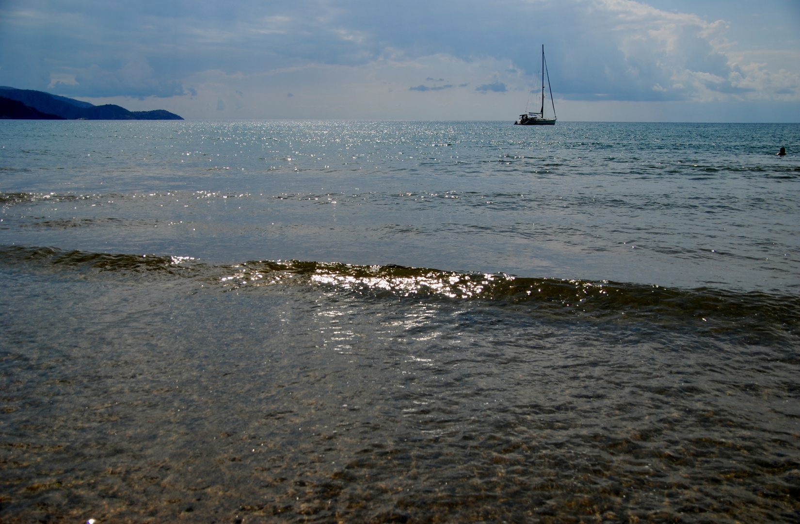
[[[576,43],[591,51],[582,60],[555,66],[557,74],[551,74],[566,98],[779,100],[778,90],[798,85],[796,72],[769,72],[735,59],[730,52],[734,42],[727,38],[730,24],[722,19],[708,21],[631,0],[594,0],[590,5],[578,20],[586,33]]]

